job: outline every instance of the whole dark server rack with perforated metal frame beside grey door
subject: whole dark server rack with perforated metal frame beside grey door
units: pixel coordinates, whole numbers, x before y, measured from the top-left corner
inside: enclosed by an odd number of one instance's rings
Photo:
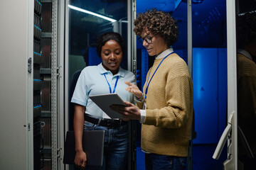
[[[34,11],[33,168],[60,169],[58,123],[61,121],[57,115],[60,77],[57,66],[58,0],[35,0]]]

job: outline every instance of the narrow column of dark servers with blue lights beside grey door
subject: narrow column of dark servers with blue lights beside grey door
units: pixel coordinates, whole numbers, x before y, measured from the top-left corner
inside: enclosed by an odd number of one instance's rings
[[[34,1],[34,25],[33,25],[33,169],[42,169],[41,158],[43,157],[41,147],[41,12],[42,4]]]

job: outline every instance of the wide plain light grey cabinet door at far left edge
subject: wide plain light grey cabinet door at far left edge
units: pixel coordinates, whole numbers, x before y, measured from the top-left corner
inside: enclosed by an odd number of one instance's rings
[[[33,1],[0,9],[0,169],[33,169]]]

